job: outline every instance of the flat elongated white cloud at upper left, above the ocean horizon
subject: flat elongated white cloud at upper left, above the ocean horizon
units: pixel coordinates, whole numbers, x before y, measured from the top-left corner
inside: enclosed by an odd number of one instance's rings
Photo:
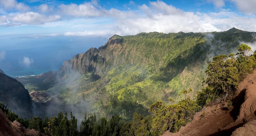
[[[41,15],[36,12],[27,12],[22,14],[10,15],[8,20],[10,22],[16,22],[21,24],[44,24],[45,22],[54,22],[61,18],[60,15]]]

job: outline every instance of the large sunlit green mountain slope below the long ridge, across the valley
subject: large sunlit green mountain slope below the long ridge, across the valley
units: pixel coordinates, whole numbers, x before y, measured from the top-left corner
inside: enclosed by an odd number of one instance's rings
[[[114,35],[104,46],[65,61],[55,73],[56,86],[44,89],[67,103],[90,104],[89,111],[131,119],[133,112],[147,114],[155,101],[169,103],[170,97],[179,101],[184,89],[196,94],[202,88],[207,61],[236,52],[240,42],[254,42],[254,35],[235,28],[212,33]]]

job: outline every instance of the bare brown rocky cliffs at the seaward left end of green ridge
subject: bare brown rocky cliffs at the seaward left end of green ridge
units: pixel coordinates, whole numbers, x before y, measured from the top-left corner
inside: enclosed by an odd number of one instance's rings
[[[85,53],[77,54],[73,59],[64,61],[60,71],[70,73],[75,70],[81,74],[92,72],[96,74],[96,77],[98,76],[100,78],[106,74],[106,70],[128,62],[127,60],[129,59],[125,58],[129,57],[124,56],[127,50],[122,44],[122,37],[114,35],[99,49],[90,48]],[[133,54],[135,55],[137,53]]]

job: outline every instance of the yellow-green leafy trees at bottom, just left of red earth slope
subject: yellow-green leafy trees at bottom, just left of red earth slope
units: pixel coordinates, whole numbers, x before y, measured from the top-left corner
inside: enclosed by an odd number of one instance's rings
[[[162,101],[157,101],[149,109],[149,112],[155,115],[152,120],[151,134],[159,136],[166,130],[176,132],[181,126],[192,121],[194,114],[199,110],[200,106],[190,98],[167,106]]]

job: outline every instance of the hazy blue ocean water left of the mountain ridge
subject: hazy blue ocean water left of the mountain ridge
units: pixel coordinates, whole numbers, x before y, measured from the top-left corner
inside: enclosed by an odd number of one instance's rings
[[[65,60],[99,48],[106,37],[0,38],[0,69],[11,77],[40,75],[59,70]]]

